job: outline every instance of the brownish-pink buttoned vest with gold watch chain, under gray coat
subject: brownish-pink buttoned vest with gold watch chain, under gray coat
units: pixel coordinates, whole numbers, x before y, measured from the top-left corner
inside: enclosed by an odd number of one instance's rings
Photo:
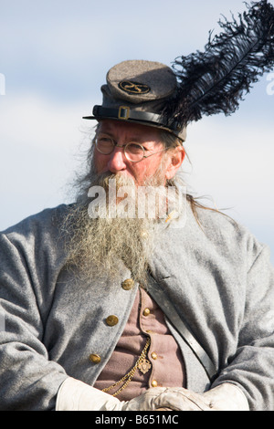
[[[182,353],[165,324],[163,311],[142,288],[136,296],[121,339],[94,387],[102,390],[121,380],[135,365],[148,336],[151,338],[151,344],[146,356],[148,362],[144,365],[144,371],[148,371],[142,373],[137,369],[132,381],[117,395],[117,398],[128,401],[156,386],[185,387]],[[112,388],[109,393],[113,394],[122,385],[123,383]]]

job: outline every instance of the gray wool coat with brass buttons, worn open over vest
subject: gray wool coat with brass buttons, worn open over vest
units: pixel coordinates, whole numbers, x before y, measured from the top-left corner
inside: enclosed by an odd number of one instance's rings
[[[54,410],[68,377],[93,385],[130,315],[138,284],[121,261],[79,281],[64,269],[58,234],[67,206],[44,210],[0,236],[0,410]],[[187,388],[237,384],[251,410],[274,410],[274,270],[269,249],[223,214],[187,209],[185,225],[161,228],[148,291],[184,356]],[[118,317],[115,326],[106,318]],[[188,326],[215,368],[209,381],[174,315]],[[101,361],[89,360],[91,353]]]

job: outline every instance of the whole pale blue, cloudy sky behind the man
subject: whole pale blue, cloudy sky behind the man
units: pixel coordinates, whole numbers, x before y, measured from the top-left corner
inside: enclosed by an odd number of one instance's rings
[[[0,229],[70,202],[109,68],[124,59],[171,65],[203,49],[239,0],[0,0]],[[3,78],[5,78],[5,95]],[[273,83],[272,83],[273,82]],[[2,87],[1,87],[2,83]],[[269,90],[268,90],[269,89]],[[270,246],[274,261],[273,75],[235,114],[188,130],[187,183]]]

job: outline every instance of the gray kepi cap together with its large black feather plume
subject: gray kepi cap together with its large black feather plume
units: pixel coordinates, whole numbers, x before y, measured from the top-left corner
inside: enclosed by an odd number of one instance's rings
[[[174,59],[173,68],[143,60],[123,61],[101,87],[103,101],[85,119],[142,123],[172,132],[182,141],[185,128],[204,116],[230,115],[244,92],[274,66],[274,7],[252,2],[239,22],[219,22],[204,52]]]

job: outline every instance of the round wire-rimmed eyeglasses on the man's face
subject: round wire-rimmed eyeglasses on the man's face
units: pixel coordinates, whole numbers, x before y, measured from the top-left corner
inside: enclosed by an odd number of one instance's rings
[[[149,155],[145,155],[145,149],[141,143],[129,142],[123,146],[117,144],[110,136],[105,134],[99,134],[95,138],[95,146],[98,152],[103,155],[110,155],[111,152],[114,151],[114,148],[122,148],[124,152],[124,156],[128,161],[131,162],[140,162],[143,158],[149,158],[150,156],[155,155],[156,153],[160,153],[166,151],[166,148],[162,149],[158,152],[150,153]]]

